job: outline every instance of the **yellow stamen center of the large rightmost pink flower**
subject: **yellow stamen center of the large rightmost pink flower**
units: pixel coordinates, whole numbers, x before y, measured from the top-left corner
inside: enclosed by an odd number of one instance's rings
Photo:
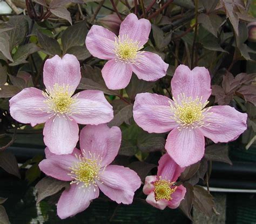
[[[205,112],[210,110],[211,107],[204,108],[209,101],[206,100],[205,103],[201,103],[201,100],[202,97],[193,100],[192,97],[186,97],[184,93],[181,93],[178,95],[178,99],[173,97],[174,104],[169,101],[173,113],[172,119],[179,124],[178,130],[181,130],[181,128],[193,129],[205,125]]]

